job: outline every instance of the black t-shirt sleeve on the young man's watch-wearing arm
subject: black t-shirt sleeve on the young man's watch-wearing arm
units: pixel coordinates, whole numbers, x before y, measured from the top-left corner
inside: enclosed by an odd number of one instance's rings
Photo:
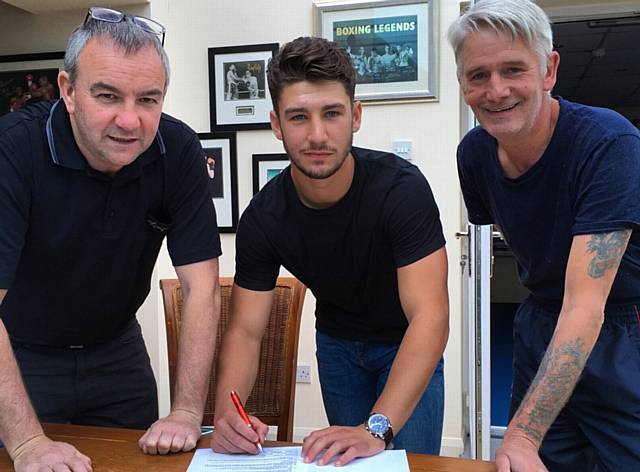
[[[396,267],[422,259],[445,245],[440,213],[425,177],[404,173],[389,193],[387,232]]]

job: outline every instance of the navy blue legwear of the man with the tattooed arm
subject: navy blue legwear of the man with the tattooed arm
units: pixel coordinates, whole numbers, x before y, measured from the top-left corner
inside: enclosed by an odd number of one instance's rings
[[[535,377],[558,321],[529,298],[513,324],[511,418]],[[640,311],[607,307],[604,324],[540,457],[550,472],[640,471]]]

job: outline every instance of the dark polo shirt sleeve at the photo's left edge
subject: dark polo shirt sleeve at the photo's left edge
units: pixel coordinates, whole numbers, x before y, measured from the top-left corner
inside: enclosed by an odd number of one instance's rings
[[[0,134],[0,288],[3,289],[9,289],[13,283],[31,207],[30,160],[24,158],[25,143],[30,138],[19,136],[21,132],[14,127],[13,131]]]

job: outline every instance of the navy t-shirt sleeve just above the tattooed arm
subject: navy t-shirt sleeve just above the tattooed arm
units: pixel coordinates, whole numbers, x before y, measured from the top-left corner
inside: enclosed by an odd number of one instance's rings
[[[578,169],[573,234],[640,227],[640,137],[622,135],[591,153]]]

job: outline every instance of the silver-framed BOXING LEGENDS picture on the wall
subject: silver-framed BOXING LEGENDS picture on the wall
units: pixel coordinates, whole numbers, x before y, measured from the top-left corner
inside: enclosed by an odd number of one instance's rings
[[[314,5],[316,36],[351,57],[357,100],[438,98],[436,1]]]

